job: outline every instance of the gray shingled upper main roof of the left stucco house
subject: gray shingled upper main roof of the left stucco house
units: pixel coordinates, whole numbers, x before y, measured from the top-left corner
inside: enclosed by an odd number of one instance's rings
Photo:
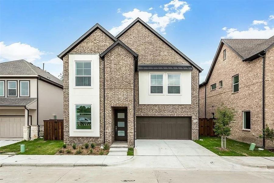
[[[63,86],[63,82],[57,77],[26,60],[14,60],[0,63],[0,75],[37,75]]]

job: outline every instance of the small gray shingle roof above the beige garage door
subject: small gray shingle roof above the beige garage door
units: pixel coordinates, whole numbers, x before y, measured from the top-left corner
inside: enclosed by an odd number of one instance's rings
[[[0,98],[0,106],[26,106],[36,98]]]

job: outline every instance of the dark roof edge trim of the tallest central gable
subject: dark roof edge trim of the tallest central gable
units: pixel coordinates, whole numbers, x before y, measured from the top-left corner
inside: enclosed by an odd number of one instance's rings
[[[140,22],[143,26],[145,26],[149,31],[151,31],[156,37],[158,37],[160,40],[162,40],[165,44],[167,44],[171,49],[173,49],[176,53],[178,53],[181,57],[183,57],[185,60],[187,60],[191,65],[193,65],[196,69],[199,70],[199,72],[202,72],[202,68],[199,67],[197,64],[195,64],[191,59],[189,59],[187,56],[185,56],[180,50],[178,50],[175,46],[173,46],[170,42],[168,42],[163,36],[161,36],[159,33],[157,33],[153,28],[151,28],[148,24],[146,24],[143,20],[141,20],[139,17],[134,20],[131,24],[128,25],[124,30],[122,30],[116,38],[119,39],[128,29],[130,29],[135,23]]]

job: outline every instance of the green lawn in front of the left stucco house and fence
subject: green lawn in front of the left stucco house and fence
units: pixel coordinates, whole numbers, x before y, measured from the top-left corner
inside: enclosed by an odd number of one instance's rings
[[[20,145],[25,144],[25,152],[20,152]],[[6,152],[17,152],[18,154],[37,154],[37,155],[53,155],[55,154],[63,145],[61,140],[47,140],[44,138],[37,138],[32,141],[21,141],[15,144],[6,145],[0,147],[0,154]]]

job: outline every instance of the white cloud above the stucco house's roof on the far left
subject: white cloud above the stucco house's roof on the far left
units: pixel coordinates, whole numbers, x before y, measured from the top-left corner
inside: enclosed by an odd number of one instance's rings
[[[5,45],[4,42],[0,42],[0,59],[2,61],[25,59],[33,62],[36,59],[40,59],[41,55],[44,54],[38,48],[21,42],[12,43],[11,45]]]

